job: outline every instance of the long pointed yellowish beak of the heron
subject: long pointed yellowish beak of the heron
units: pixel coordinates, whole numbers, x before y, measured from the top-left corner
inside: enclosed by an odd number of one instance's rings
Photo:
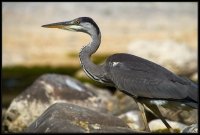
[[[59,28],[59,29],[67,29],[68,27],[70,27],[71,22],[58,22],[58,23],[51,23],[51,24],[46,24],[46,25],[42,25],[42,27],[45,28]]]

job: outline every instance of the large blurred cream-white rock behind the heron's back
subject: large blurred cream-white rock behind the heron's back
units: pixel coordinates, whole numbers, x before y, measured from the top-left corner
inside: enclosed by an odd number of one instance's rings
[[[197,72],[197,51],[183,43],[168,41],[134,41],[128,53],[148,59],[179,75]]]

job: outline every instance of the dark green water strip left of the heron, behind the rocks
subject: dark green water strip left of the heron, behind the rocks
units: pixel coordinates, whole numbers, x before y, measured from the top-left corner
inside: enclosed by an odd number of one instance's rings
[[[80,67],[12,66],[2,69],[2,105],[8,107],[13,98],[45,73],[73,76]]]

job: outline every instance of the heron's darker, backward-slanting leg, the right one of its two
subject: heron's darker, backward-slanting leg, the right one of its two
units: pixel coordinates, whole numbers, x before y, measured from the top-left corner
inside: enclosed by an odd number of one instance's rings
[[[158,118],[162,120],[162,122],[165,124],[165,126],[169,129],[170,132],[173,132],[172,127],[169,125],[169,123],[165,120],[165,118],[162,116],[159,108],[157,105],[154,104],[147,104],[144,103],[155,115],[157,115]]]

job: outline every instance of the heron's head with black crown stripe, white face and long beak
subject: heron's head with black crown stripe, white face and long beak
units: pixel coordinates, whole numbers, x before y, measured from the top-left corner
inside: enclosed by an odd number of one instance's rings
[[[90,17],[79,17],[71,21],[64,21],[58,23],[51,23],[42,25],[46,28],[59,28],[70,31],[85,32],[88,34],[97,33],[99,34],[99,28],[97,24]]]

